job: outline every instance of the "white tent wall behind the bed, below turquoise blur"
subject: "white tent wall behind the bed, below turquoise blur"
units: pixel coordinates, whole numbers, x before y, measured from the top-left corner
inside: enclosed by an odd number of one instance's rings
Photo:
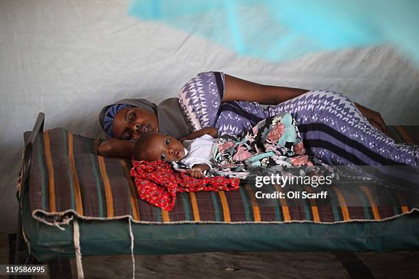
[[[103,105],[126,97],[158,103],[177,96],[198,72],[220,70],[259,83],[335,90],[380,111],[388,124],[419,124],[419,72],[390,47],[273,64],[140,22],[127,16],[128,2],[0,1],[0,233],[16,229],[23,132],[39,111],[45,129],[103,136]]]

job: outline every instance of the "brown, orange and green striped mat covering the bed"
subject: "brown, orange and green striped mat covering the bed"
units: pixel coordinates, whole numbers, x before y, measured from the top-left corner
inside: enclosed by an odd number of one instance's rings
[[[396,142],[419,144],[419,127],[389,127],[388,134]],[[238,191],[179,193],[175,208],[168,212],[140,200],[129,176],[131,161],[98,156],[95,152],[98,144],[98,139],[73,135],[62,128],[45,131],[38,137],[29,174],[33,217],[51,225],[68,224],[74,217],[84,220],[130,217],[142,224],[336,224],[383,221],[419,208],[419,204],[407,204],[407,193],[377,190],[374,183],[349,181],[332,185],[327,202],[285,198],[266,203],[255,198],[257,189],[242,183]],[[272,191],[285,191],[277,185],[268,187]],[[294,191],[317,190],[298,186]]]

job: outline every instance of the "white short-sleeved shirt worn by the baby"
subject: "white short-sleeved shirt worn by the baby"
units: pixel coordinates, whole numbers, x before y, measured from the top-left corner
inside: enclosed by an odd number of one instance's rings
[[[212,156],[212,148],[216,139],[210,135],[203,135],[196,139],[190,139],[183,142],[185,146],[186,157],[181,159],[189,168],[198,163],[205,163],[212,168],[214,166],[214,158]]]

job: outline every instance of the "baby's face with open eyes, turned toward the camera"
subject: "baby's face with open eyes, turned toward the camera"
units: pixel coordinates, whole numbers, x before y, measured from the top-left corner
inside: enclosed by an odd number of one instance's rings
[[[144,158],[146,161],[161,159],[162,161],[180,161],[185,157],[183,144],[175,137],[156,133],[149,139],[147,152]]]

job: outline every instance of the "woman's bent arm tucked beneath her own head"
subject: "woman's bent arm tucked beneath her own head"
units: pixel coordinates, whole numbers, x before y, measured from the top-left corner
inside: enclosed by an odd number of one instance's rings
[[[107,139],[97,148],[97,155],[131,159],[134,155],[134,144],[129,140]]]

